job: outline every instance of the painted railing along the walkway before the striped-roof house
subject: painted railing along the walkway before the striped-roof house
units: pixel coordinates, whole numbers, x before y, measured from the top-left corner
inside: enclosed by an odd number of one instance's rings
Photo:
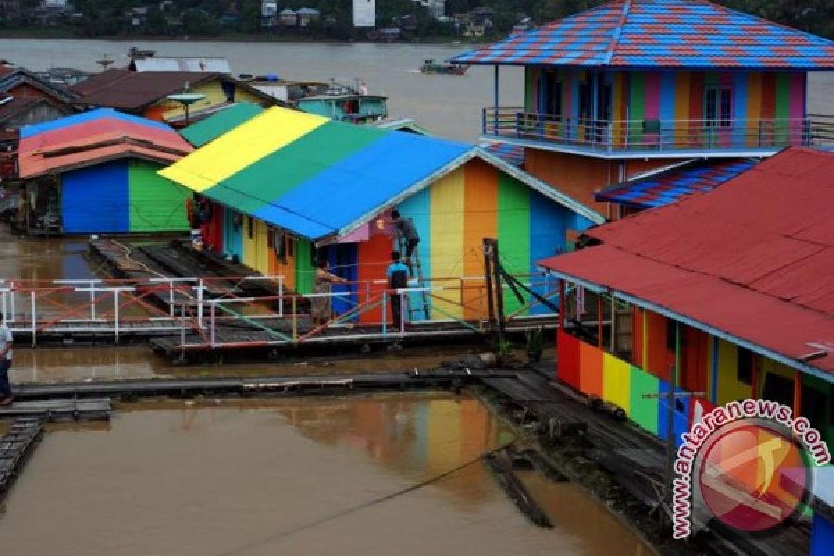
[[[556,302],[555,278],[544,274],[517,275],[526,286]],[[241,297],[242,284],[268,280],[274,295]],[[234,287],[229,287],[233,283]],[[244,345],[292,344],[320,341],[333,332],[356,339],[404,337],[411,315],[425,298],[431,320],[420,323],[454,323],[459,330],[485,331],[489,311],[487,285],[481,276],[434,278],[408,288],[389,289],[386,280],[345,283],[347,291],[287,293],[283,276],[192,277],[84,280],[0,280],[0,312],[13,333],[26,333],[32,345],[38,338],[85,336],[120,338],[178,336],[183,348],[234,348]],[[504,286],[505,291],[510,288]],[[401,318],[391,322],[389,302],[399,296]],[[320,298],[339,300],[341,313],[327,323],[310,324],[307,310]],[[414,305],[417,303],[417,305]],[[540,300],[527,295],[513,303],[505,322],[526,326],[530,310]],[[377,313],[371,313],[377,311]],[[538,312],[543,311],[539,309]],[[554,313],[538,315],[553,318]],[[532,326],[533,324],[530,324]],[[252,331],[243,341],[224,339],[229,330]],[[425,332],[425,331],[424,331]],[[234,336],[234,334],[232,334]]]

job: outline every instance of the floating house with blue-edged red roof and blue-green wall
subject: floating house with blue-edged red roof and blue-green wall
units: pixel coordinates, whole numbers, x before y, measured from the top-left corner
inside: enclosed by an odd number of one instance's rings
[[[23,128],[28,231],[188,230],[191,192],[157,172],[192,150],[163,123],[107,109]]]

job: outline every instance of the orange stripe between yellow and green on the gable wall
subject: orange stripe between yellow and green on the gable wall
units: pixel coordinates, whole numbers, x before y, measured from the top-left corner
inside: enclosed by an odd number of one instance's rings
[[[480,245],[484,238],[498,237],[498,173],[493,166],[474,159],[466,164],[464,175],[464,245]],[[465,276],[483,276],[484,258],[478,250],[464,254]],[[482,285],[483,281],[468,281],[464,287]],[[486,307],[482,288],[462,292],[464,318],[479,318]]]

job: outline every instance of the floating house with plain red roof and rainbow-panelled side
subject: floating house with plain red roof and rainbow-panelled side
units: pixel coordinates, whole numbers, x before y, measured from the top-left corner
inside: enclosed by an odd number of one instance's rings
[[[765,398],[834,443],[834,153],[788,148],[708,193],[586,232],[540,265],[570,288],[558,378],[676,442],[716,404]],[[740,209],[743,208],[743,209]],[[690,395],[686,395],[689,393]]]

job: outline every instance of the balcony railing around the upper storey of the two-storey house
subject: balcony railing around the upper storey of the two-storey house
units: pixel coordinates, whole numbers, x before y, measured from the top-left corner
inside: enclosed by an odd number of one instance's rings
[[[484,135],[598,153],[772,150],[834,146],[834,117],[729,120],[592,120],[484,108]]]

